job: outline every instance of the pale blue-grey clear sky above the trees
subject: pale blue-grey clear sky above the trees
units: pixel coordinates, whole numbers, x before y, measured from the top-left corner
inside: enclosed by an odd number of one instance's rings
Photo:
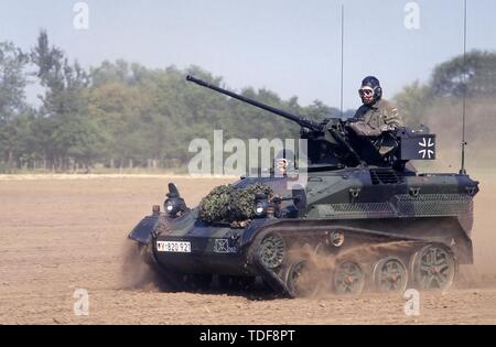
[[[0,0],[0,41],[29,50],[46,29],[85,67],[118,58],[194,64],[233,90],[268,88],[301,105],[339,107],[344,6],[345,109],[359,106],[367,75],[388,98],[463,53],[463,0],[87,0],[88,29],[74,25],[77,2]],[[467,0],[468,51],[496,51],[495,14],[495,0]]]

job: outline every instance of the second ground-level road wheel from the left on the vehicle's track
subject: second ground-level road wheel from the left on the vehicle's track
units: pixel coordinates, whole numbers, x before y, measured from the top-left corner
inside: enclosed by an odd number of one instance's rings
[[[365,272],[359,263],[344,260],[336,264],[334,288],[337,294],[358,295],[365,286]]]

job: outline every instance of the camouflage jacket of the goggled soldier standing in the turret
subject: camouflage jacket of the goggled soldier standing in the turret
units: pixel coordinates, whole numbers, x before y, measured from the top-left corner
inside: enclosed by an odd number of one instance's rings
[[[349,123],[349,127],[360,137],[378,137],[384,126],[393,129],[403,127],[398,109],[384,99],[371,106],[362,105]]]

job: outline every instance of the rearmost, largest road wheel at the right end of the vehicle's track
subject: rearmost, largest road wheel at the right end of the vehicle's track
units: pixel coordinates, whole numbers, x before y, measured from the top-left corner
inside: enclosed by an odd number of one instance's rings
[[[428,245],[413,253],[410,275],[420,290],[446,290],[456,274],[456,259],[443,245]]]

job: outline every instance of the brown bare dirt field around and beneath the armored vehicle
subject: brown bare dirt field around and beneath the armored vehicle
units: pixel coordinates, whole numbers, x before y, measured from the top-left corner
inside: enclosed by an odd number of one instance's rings
[[[162,204],[166,177],[0,177],[0,324],[496,324],[496,177],[478,177],[476,264],[446,293],[421,293],[417,317],[400,296],[326,295],[258,300],[257,294],[126,289],[126,237]],[[174,178],[192,205],[226,180]],[[76,316],[76,289],[89,315]]]

